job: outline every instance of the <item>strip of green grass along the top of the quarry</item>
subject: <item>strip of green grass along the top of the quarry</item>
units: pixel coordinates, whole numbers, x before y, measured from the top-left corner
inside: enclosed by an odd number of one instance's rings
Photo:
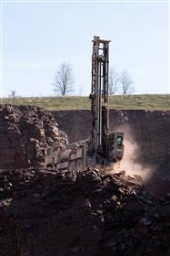
[[[110,96],[110,109],[125,110],[170,110],[170,94],[140,94]],[[44,107],[46,110],[88,110],[88,97],[34,97],[5,98],[1,103],[16,105],[28,104]]]

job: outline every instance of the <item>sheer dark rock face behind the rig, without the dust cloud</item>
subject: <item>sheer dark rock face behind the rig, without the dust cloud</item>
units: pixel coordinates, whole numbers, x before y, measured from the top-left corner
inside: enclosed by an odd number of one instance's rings
[[[90,111],[58,111],[54,115],[70,142],[90,136]],[[110,131],[124,131],[126,139],[133,136],[145,162],[170,168],[170,111],[110,110],[109,115]]]

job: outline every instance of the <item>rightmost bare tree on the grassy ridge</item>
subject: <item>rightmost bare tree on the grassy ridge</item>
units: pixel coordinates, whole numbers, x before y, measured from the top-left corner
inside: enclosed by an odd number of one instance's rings
[[[134,83],[134,80],[132,80],[131,75],[128,73],[128,71],[123,71],[120,74],[120,79],[119,79],[119,91],[122,94],[131,94],[135,91],[134,86],[132,84]]]

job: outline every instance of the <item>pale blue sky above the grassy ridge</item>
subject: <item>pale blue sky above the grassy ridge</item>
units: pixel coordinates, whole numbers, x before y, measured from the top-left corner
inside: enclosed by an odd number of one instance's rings
[[[135,93],[169,93],[167,3],[2,3],[2,95],[54,95],[55,70],[72,65],[75,93],[91,88],[93,36],[110,39],[110,66]]]

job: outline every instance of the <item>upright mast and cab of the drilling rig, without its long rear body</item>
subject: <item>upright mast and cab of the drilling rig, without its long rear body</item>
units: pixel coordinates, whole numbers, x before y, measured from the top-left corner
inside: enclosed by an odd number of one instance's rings
[[[110,40],[94,37],[92,42],[91,154],[95,155],[96,162],[108,164],[122,159],[124,155],[124,133],[109,133]]]

